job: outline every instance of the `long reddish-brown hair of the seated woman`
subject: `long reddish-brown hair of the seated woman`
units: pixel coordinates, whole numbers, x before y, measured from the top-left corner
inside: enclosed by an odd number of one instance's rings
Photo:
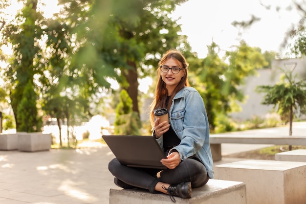
[[[166,107],[166,101],[167,101],[167,96],[168,96],[168,90],[166,88],[166,84],[165,82],[162,80],[161,78],[161,69],[160,66],[164,64],[164,62],[168,59],[176,59],[177,61],[179,61],[182,64],[182,70],[181,71],[185,71],[184,76],[182,77],[182,79],[180,80],[180,82],[177,84],[177,86],[175,87],[175,90],[173,91],[170,99],[169,99],[169,103],[168,106]],[[182,55],[181,52],[175,50],[175,49],[170,49],[168,50],[163,57],[160,59],[159,63],[158,63],[158,68],[157,68],[157,84],[156,84],[156,89],[155,89],[155,98],[152,102],[152,104],[150,105],[150,121],[151,121],[151,125],[152,127],[154,127],[154,115],[153,115],[153,111],[155,109],[158,108],[167,108],[168,110],[170,110],[171,107],[171,103],[172,103],[172,99],[174,98],[175,94],[180,91],[181,89],[183,89],[185,86],[189,87],[189,82],[188,82],[188,78],[187,78],[187,73],[188,73],[188,66],[189,64],[187,63],[185,57]]]

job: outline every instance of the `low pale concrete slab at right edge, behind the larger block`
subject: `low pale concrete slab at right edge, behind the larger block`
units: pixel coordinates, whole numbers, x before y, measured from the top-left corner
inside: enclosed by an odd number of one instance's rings
[[[301,161],[306,162],[306,149],[291,150],[281,152],[274,155],[275,160],[278,161]]]

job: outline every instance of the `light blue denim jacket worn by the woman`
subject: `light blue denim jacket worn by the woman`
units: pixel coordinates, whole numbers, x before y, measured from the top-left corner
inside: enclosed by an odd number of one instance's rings
[[[181,160],[196,155],[214,178],[213,159],[209,145],[209,124],[203,99],[196,89],[185,87],[175,95],[169,110],[169,122],[181,139],[177,150]],[[163,146],[163,136],[156,139]]]

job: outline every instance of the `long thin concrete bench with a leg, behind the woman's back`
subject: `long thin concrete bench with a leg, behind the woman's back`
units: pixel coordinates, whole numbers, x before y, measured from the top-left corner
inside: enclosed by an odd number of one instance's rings
[[[306,136],[221,136],[211,135],[210,147],[214,161],[222,159],[221,144],[273,144],[273,145],[306,145]]]

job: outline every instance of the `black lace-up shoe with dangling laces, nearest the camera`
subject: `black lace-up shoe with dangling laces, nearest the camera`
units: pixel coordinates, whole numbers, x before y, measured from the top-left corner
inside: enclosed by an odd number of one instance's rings
[[[180,198],[191,198],[191,182],[181,182],[178,184],[170,185],[168,189],[165,186],[162,186],[162,188],[168,191],[168,194],[174,203],[174,196]]]

